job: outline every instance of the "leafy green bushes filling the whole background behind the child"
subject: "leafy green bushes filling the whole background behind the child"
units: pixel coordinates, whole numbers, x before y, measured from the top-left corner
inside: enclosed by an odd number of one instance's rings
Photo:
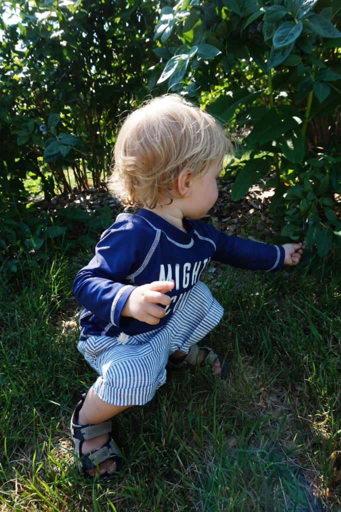
[[[38,216],[27,180],[46,198],[102,186],[121,119],[166,92],[205,106],[234,137],[232,200],[274,187],[279,242],[304,238],[320,260],[340,245],[340,0],[8,0],[0,10],[16,14],[0,20],[5,268],[45,258],[74,227]]]

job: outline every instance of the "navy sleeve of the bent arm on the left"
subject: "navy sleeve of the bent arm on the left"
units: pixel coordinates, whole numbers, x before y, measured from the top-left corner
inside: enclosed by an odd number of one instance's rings
[[[103,321],[120,326],[127,298],[135,288],[127,276],[134,273],[136,262],[143,261],[145,247],[136,238],[134,226],[116,222],[106,231],[90,263],[76,275],[73,292],[82,306]]]

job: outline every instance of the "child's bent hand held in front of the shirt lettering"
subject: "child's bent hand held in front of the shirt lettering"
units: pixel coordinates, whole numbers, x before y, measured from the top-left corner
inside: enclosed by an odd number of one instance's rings
[[[156,325],[163,318],[165,309],[158,306],[171,304],[171,297],[165,295],[174,288],[174,281],[154,281],[137,286],[127,298],[122,309],[122,316],[132,316],[140,322]]]

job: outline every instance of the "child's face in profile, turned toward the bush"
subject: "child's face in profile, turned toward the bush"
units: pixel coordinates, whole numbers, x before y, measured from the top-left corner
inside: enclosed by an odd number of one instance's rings
[[[217,177],[221,173],[222,160],[213,160],[205,173],[191,179],[190,194],[186,199],[184,216],[200,219],[218,199]]]

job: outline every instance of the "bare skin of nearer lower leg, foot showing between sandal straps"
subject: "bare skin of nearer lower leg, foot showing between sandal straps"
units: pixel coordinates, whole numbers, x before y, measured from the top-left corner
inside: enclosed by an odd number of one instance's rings
[[[78,423],[80,425],[87,425],[88,423],[97,424],[102,423],[110,418],[113,418],[124,409],[132,406],[113,406],[111,403],[104,402],[97,395],[95,395],[93,388],[90,388],[83,406],[78,414]],[[109,439],[109,434],[104,434],[92,439],[84,440],[82,444],[82,453],[87,454],[93,450],[101,448]],[[112,473],[116,471],[116,462],[112,460],[105,460],[99,465],[100,473]],[[88,471],[89,475],[97,473],[97,468]]]

